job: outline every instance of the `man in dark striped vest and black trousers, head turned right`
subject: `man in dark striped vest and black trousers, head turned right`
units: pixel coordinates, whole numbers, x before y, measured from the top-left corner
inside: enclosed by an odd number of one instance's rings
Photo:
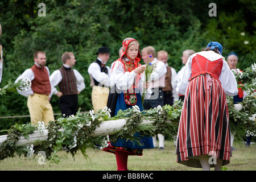
[[[63,66],[54,71],[50,76],[51,84],[54,86],[52,93],[59,97],[61,114],[64,117],[76,115],[78,111],[78,94],[85,89],[84,77],[72,67],[76,64],[73,52],[65,52],[61,56]],[[56,89],[59,86],[60,91]]]

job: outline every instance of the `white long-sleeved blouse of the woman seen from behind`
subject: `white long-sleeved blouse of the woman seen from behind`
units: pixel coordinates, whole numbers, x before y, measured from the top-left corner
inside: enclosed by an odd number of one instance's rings
[[[221,82],[221,85],[226,93],[226,95],[228,96],[236,96],[238,94],[238,89],[237,89],[237,81],[236,81],[236,77],[234,76],[233,72],[230,71],[229,65],[225,60],[225,57],[213,52],[213,51],[201,51],[201,52],[197,52],[194,53],[193,55],[191,55],[188,58],[188,61],[185,65],[184,68],[184,73],[183,75],[180,77],[179,80],[177,80],[177,87],[176,90],[177,92],[179,92],[180,94],[185,95],[185,91],[188,87],[188,80],[189,78],[192,77],[192,71],[191,71],[191,64],[192,64],[192,59],[193,57],[195,57],[196,55],[201,55],[203,57],[206,57],[209,61],[216,61],[218,59],[222,59],[223,60],[223,66],[221,69],[221,75],[218,78]]]

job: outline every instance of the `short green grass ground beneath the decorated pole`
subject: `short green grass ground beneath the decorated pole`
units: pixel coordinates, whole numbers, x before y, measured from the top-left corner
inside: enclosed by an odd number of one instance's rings
[[[188,171],[199,170],[201,168],[186,167],[176,163],[175,146],[171,140],[165,141],[165,149],[158,148],[143,150],[143,156],[129,156],[128,168],[134,171]],[[234,142],[236,150],[230,164],[225,167],[234,171],[256,170],[256,144],[245,147],[241,142]],[[75,160],[71,154],[62,151],[58,155],[60,163],[39,164],[40,156],[25,158],[16,156],[15,158],[4,159],[0,162],[1,171],[115,171],[115,155],[97,149],[89,149],[86,160],[81,152],[75,155]]]

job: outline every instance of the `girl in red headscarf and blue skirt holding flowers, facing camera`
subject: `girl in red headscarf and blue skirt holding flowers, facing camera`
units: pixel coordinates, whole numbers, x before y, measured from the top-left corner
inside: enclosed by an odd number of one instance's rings
[[[149,84],[143,83],[141,75],[146,66],[139,64],[141,53],[139,52],[139,42],[133,38],[126,38],[122,43],[122,55],[115,61],[110,77],[110,90],[107,106],[112,110],[112,117],[117,112],[126,110],[137,105],[142,111],[141,90],[142,86],[148,89]],[[146,96],[147,97],[147,96]],[[134,137],[141,137],[142,145],[135,144],[130,140],[119,139],[115,143],[109,143],[109,146],[103,151],[112,152],[117,160],[117,170],[127,170],[127,160],[129,155],[142,156],[143,148],[154,148],[152,137],[141,136],[135,133]]]

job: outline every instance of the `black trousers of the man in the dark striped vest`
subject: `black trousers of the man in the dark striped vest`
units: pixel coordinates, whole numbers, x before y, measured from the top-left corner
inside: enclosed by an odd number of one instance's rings
[[[61,115],[65,114],[64,117],[69,117],[69,115],[76,115],[78,111],[78,96],[76,95],[67,95],[61,96],[59,98],[59,106]]]

